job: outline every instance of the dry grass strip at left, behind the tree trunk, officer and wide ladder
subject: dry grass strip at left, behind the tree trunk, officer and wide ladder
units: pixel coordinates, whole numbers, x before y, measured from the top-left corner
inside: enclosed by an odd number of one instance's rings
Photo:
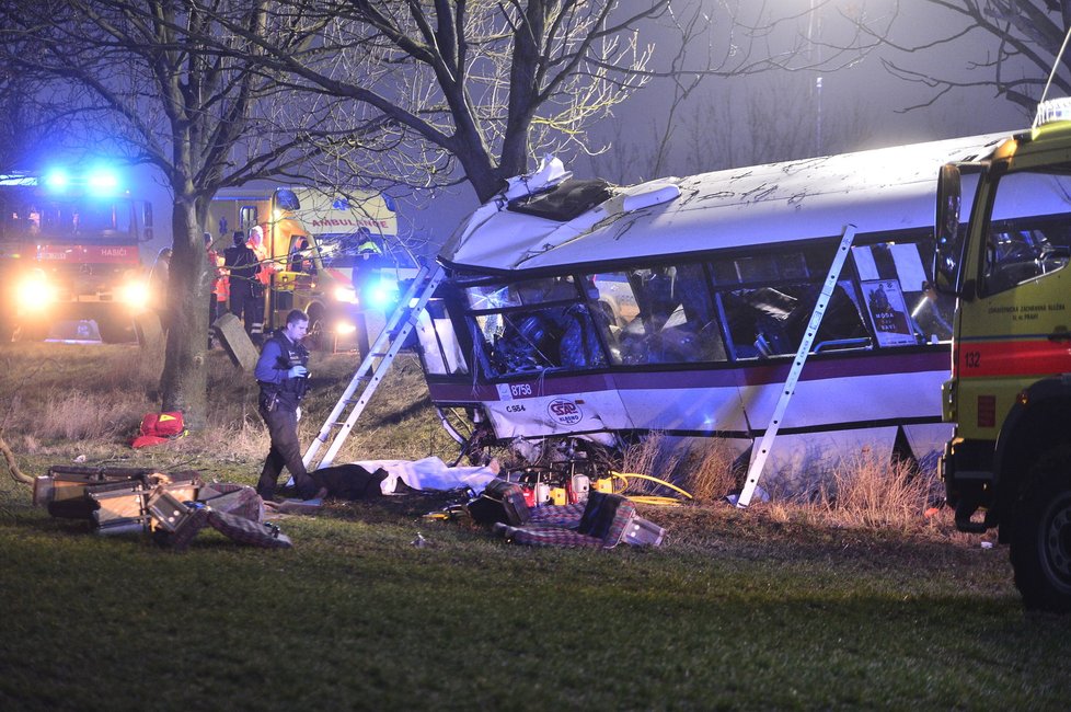
[[[0,346],[0,429],[16,452],[53,460],[163,459],[161,467],[210,458],[258,468],[268,448],[256,411],[252,374],[234,368],[220,351],[208,354],[208,427],[161,447],[131,451],[127,444],[142,415],[159,410],[162,346],[10,344]],[[300,425],[311,443],[342,395],[358,363],[354,354],[313,354],[311,390]],[[428,407],[419,364],[399,356],[337,457],[452,460],[456,444]]]

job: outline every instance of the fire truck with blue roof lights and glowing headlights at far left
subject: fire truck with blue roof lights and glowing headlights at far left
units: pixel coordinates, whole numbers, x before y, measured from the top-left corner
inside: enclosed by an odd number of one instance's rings
[[[138,248],[151,239],[151,203],[113,171],[0,175],[0,341],[41,340],[62,320],[133,338],[147,303]]]

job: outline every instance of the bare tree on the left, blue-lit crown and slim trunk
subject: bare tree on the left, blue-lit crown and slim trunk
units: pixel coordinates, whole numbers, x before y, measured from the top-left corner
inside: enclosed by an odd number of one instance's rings
[[[55,115],[79,119],[82,143],[114,146],[166,179],[174,242],[162,409],[183,411],[194,426],[206,410],[208,204],[221,186],[303,158],[298,141],[270,140],[278,133],[262,108],[278,91],[250,39],[265,31],[266,4],[20,0],[0,10],[8,67],[48,82],[38,96]],[[302,41],[288,37],[273,39],[280,51]]]

